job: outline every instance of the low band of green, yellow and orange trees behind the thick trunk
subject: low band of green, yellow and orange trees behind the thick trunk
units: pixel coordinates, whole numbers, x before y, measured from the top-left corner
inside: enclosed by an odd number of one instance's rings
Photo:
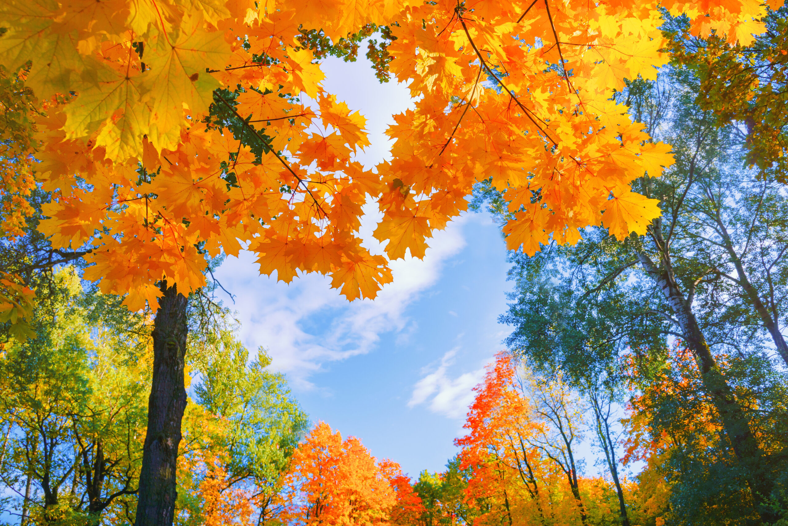
[[[41,286],[37,338],[9,341],[0,357],[2,521],[133,524],[150,320],[89,287],[72,267]],[[535,299],[514,294],[509,317]],[[545,309],[546,299],[539,299]],[[523,329],[540,330],[520,318],[511,350],[496,355],[474,389],[455,439],[459,453],[444,472],[411,480],[359,439],[310,423],[284,377],[266,369],[266,351],[251,355],[229,310],[209,300],[189,304],[191,397],[175,524],[762,524],[748,485],[755,471],[735,458],[692,351],[678,338],[621,346],[615,357],[608,347],[593,360],[550,342],[542,347],[555,350],[548,361],[537,347],[525,353],[515,343],[528,337]],[[757,426],[764,460],[785,447],[788,399],[782,368],[761,352],[768,347],[716,354]],[[596,466],[585,465],[583,443],[597,451]],[[778,462],[767,496],[775,524],[788,517]]]

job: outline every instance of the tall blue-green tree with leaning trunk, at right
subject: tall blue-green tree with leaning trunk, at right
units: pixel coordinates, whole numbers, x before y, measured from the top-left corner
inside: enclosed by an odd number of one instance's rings
[[[621,94],[654,135],[674,146],[675,166],[635,185],[660,199],[663,217],[645,236],[624,242],[589,228],[577,246],[512,254],[515,292],[501,320],[515,326],[511,350],[543,370],[562,370],[578,387],[619,376],[629,357],[643,378],[654,376],[669,341],[681,341],[697,365],[700,395],[722,426],[722,453],[704,458],[696,450],[699,470],[671,472],[686,484],[677,486],[675,509],[689,520],[704,509],[699,502],[749,495],[769,523],[777,520],[769,495],[777,498],[785,463],[785,402],[777,388],[782,372],[769,356],[777,344],[745,281],[777,319],[785,299],[788,203],[780,187],[738,168],[737,131],[720,128],[712,112],[693,104],[698,89],[686,70],[674,69]],[[493,211],[502,209],[491,189],[481,197],[492,197]],[[738,518],[748,516],[746,508]]]

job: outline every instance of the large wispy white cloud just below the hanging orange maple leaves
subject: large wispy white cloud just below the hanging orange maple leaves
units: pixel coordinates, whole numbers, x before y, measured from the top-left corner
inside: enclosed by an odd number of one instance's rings
[[[290,285],[258,275],[251,253],[229,257],[217,278],[232,294],[242,324],[241,337],[251,349],[264,346],[272,367],[288,373],[299,388],[314,387],[309,377],[325,363],[344,360],[373,349],[381,335],[397,332],[407,341],[415,321],[405,310],[422,291],[440,277],[445,261],[465,246],[466,217],[448,224],[429,240],[423,260],[406,257],[392,261],[394,280],[374,300],[348,302],[330,288],[325,276],[306,275]],[[381,246],[372,238],[370,221],[362,223],[365,245],[375,252]]]

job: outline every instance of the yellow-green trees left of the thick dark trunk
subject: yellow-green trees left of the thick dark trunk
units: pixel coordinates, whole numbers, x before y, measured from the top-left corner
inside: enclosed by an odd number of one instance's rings
[[[36,304],[38,336],[6,343],[0,359],[0,476],[22,523],[99,524],[136,492],[146,338],[126,332],[140,317],[124,308],[113,320],[117,298],[84,294],[73,269],[53,280]],[[110,325],[118,318],[121,330]]]

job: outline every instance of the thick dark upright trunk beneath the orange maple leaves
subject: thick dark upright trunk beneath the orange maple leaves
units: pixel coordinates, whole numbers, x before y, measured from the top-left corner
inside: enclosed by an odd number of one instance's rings
[[[186,409],[187,299],[162,282],[153,330],[153,383],[148,398],[148,425],[139,473],[135,526],[171,526],[175,513],[176,465],[180,420]]]

